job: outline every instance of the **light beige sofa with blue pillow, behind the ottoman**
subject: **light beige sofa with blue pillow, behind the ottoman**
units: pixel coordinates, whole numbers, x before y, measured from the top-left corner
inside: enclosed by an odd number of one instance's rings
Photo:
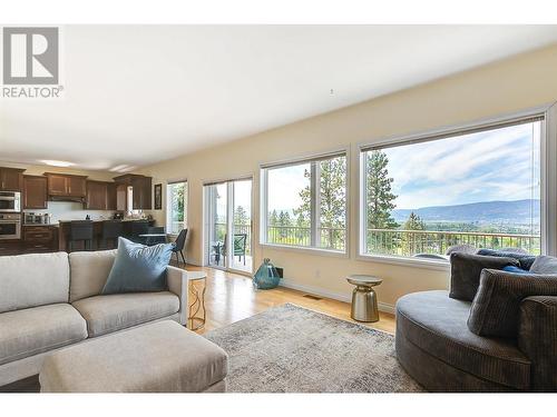
[[[68,345],[148,322],[187,322],[187,272],[168,290],[100,295],[116,250],[0,257],[0,386],[39,374]]]

